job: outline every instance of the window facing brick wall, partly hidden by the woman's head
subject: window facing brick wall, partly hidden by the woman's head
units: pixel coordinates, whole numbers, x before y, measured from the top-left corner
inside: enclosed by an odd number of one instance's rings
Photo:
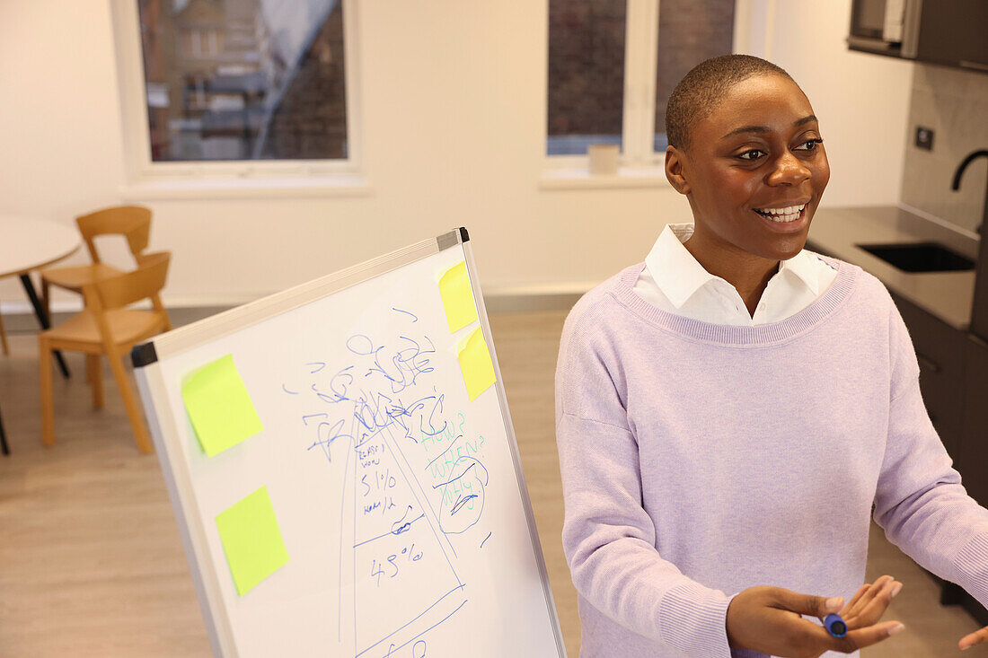
[[[546,155],[612,143],[659,161],[669,94],[733,29],[734,0],[549,0]]]

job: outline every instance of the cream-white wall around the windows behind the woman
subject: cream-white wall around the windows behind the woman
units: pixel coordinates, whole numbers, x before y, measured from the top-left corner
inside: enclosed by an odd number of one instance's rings
[[[121,203],[110,2],[0,2],[0,213],[71,224]],[[769,40],[748,49],[789,70],[821,118],[825,203],[896,202],[911,65],[847,51],[850,0],[753,4],[768,8],[756,21]],[[238,303],[460,224],[488,292],[581,288],[689,219],[667,187],[539,188],[544,0],[362,0],[359,20],[372,194],[147,202],[151,247],[174,254],[166,303]],[[0,302],[22,309],[23,291],[0,282]]]

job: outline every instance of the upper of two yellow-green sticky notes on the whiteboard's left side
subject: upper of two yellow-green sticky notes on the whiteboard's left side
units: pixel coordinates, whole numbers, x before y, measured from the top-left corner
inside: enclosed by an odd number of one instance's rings
[[[209,456],[264,429],[231,354],[187,376],[182,382],[182,399],[199,443]]]

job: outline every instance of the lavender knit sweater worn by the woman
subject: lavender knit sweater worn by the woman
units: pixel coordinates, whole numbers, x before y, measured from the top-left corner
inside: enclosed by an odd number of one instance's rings
[[[988,511],[930,423],[905,325],[877,280],[823,260],[833,285],[774,324],[661,311],[632,291],[640,264],[573,308],[556,436],[581,656],[729,656],[727,605],[755,585],[850,599],[872,504],[988,605]]]

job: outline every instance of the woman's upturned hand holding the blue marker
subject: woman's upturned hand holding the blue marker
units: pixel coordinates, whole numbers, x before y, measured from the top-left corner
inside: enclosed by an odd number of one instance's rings
[[[903,629],[898,621],[878,623],[900,589],[902,583],[882,576],[871,585],[864,584],[842,609],[843,599],[797,594],[781,587],[752,587],[735,596],[727,608],[727,640],[734,648],[786,658],[815,658],[825,651],[851,653]],[[848,624],[844,637],[834,637],[820,624],[801,617],[823,618],[838,612]]]

